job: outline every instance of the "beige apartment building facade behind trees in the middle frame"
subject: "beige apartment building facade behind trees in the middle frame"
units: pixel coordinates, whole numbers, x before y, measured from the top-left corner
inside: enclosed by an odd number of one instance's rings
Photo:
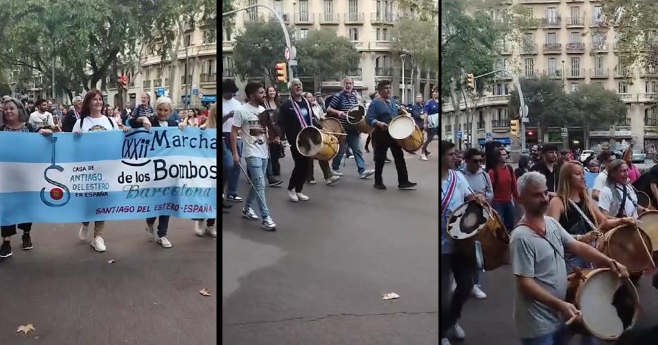
[[[310,30],[324,27],[332,28],[337,35],[349,37],[357,51],[361,53],[361,59],[358,66],[353,66],[353,71],[348,76],[353,77],[355,89],[362,97],[368,97],[368,93],[375,91],[377,82],[384,79],[392,81],[395,95],[402,94],[403,86],[400,84],[402,60],[391,47],[391,29],[398,17],[413,16],[413,10],[401,10],[393,0],[246,0],[238,3],[236,7],[256,4],[269,6],[278,12],[285,25],[293,32],[293,37],[297,39],[307,37]],[[235,74],[235,62],[232,56],[235,48],[235,32],[242,30],[246,22],[267,20],[271,16],[271,12],[265,8],[238,12],[235,14],[233,34],[229,35],[226,30],[222,30],[222,79],[235,80],[240,88],[238,97],[243,92],[247,80],[242,80]],[[283,52],[281,52],[281,60],[283,61]],[[412,99],[410,73],[407,59],[406,100]],[[435,84],[433,78],[434,76],[429,79],[432,86]],[[300,79],[306,90],[321,91],[323,94],[337,92],[342,87],[341,80],[328,80],[321,85],[314,85],[311,76],[301,75]],[[269,84],[265,76],[254,81]],[[427,82],[425,76],[421,77],[420,90],[423,90]]]

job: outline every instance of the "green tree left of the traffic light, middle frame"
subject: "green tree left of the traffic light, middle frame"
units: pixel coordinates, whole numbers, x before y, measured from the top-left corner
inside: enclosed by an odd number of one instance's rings
[[[242,79],[260,78],[266,75],[276,84],[274,65],[284,62],[285,37],[278,21],[252,21],[245,23],[244,30],[235,36],[233,60],[235,73]],[[298,48],[298,55],[299,48]]]

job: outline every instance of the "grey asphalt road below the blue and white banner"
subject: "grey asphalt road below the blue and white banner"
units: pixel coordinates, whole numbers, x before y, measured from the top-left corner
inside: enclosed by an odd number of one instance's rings
[[[165,249],[144,224],[107,222],[104,253],[78,240],[77,224],[35,225],[28,252],[19,230],[0,263],[0,344],[217,344],[217,240],[171,218]],[[16,333],[26,324],[36,330]]]

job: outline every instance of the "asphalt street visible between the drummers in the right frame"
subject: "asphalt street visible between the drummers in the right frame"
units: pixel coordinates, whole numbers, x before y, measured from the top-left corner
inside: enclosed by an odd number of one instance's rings
[[[482,290],[487,299],[469,299],[464,306],[459,324],[466,339],[461,345],[519,345],[513,321],[515,286],[510,266],[480,275]],[[658,290],[651,286],[650,277],[643,277],[637,287],[644,315],[639,326],[658,324]],[[580,344],[578,337],[571,345]]]

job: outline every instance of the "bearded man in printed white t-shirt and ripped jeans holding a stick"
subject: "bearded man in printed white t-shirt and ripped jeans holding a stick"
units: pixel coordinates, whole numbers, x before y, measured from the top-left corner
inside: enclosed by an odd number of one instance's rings
[[[244,202],[242,216],[250,221],[257,221],[258,216],[251,209],[251,204],[258,202],[260,216],[263,223],[260,225],[267,231],[276,231],[276,224],[269,216],[267,201],[265,201],[265,176],[267,175],[267,160],[269,159],[269,141],[267,128],[258,120],[258,114],[265,111],[263,97],[265,88],[263,84],[250,82],[244,88],[247,95],[247,103],[242,104],[233,115],[233,128],[231,129],[231,151],[233,164],[240,164],[240,153],[238,152],[238,132],[242,137],[242,155],[247,161],[247,169],[251,175],[253,187],[249,189],[249,196]],[[239,167],[238,167],[239,168]],[[256,200],[258,199],[258,200]]]

